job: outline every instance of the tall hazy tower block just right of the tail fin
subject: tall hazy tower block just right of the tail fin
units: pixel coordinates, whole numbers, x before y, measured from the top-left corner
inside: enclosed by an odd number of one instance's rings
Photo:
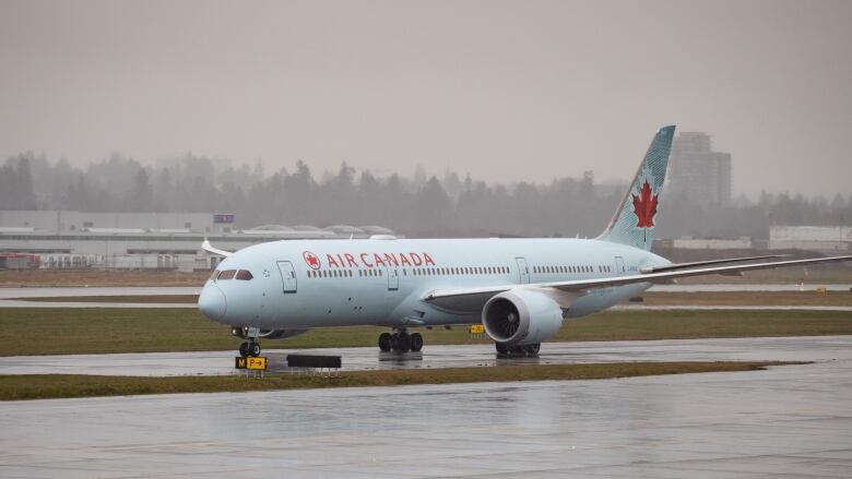
[[[713,152],[709,135],[687,131],[675,136],[671,163],[674,196],[694,204],[731,202],[731,154]]]

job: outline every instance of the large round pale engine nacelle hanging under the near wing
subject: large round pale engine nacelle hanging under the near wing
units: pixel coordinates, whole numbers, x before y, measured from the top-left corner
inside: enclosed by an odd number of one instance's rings
[[[563,310],[547,295],[511,289],[485,303],[482,324],[492,339],[506,345],[532,345],[553,336],[563,325]]]

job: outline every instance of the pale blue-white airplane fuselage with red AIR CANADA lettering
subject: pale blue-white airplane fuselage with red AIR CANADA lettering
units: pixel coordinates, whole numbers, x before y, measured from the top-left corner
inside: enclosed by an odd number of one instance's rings
[[[222,261],[199,308],[214,321],[264,330],[473,324],[481,306],[449,310],[424,297],[449,288],[635,275],[664,264],[644,250],[580,239],[275,241]],[[648,287],[590,290],[566,316],[600,311]]]

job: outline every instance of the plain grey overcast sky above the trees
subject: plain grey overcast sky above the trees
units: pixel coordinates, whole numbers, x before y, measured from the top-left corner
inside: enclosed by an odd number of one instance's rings
[[[705,131],[734,192],[852,193],[852,2],[0,0],[0,155],[627,179]]]

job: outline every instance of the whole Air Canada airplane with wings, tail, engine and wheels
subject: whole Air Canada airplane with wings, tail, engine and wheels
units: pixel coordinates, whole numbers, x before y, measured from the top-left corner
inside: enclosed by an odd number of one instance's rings
[[[419,326],[482,323],[500,355],[539,354],[566,319],[591,314],[656,283],[711,274],[849,261],[780,256],[672,263],[650,252],[675,127],[660,129],[607,228],[595,239],[283,240],[225,258],[204,285],[199,309],[246,339],[318,327],[387,326],[382,351],[419,351]]]

